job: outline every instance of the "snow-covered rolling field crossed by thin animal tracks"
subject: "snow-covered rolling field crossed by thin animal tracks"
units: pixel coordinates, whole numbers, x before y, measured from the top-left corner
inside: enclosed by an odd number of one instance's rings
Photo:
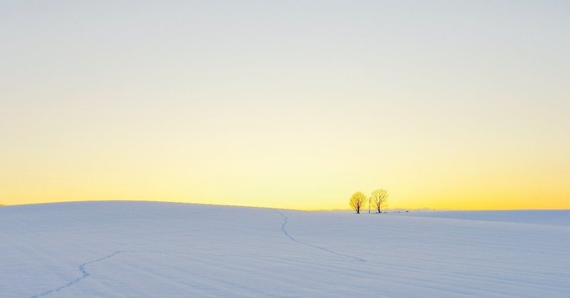
[[[570,297],[570,211],[0,208],[0,297]]]

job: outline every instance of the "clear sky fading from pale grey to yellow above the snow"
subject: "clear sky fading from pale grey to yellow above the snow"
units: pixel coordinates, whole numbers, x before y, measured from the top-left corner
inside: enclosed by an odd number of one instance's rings
[[[570,208],[568,1],[0,1],[0,203]]]

